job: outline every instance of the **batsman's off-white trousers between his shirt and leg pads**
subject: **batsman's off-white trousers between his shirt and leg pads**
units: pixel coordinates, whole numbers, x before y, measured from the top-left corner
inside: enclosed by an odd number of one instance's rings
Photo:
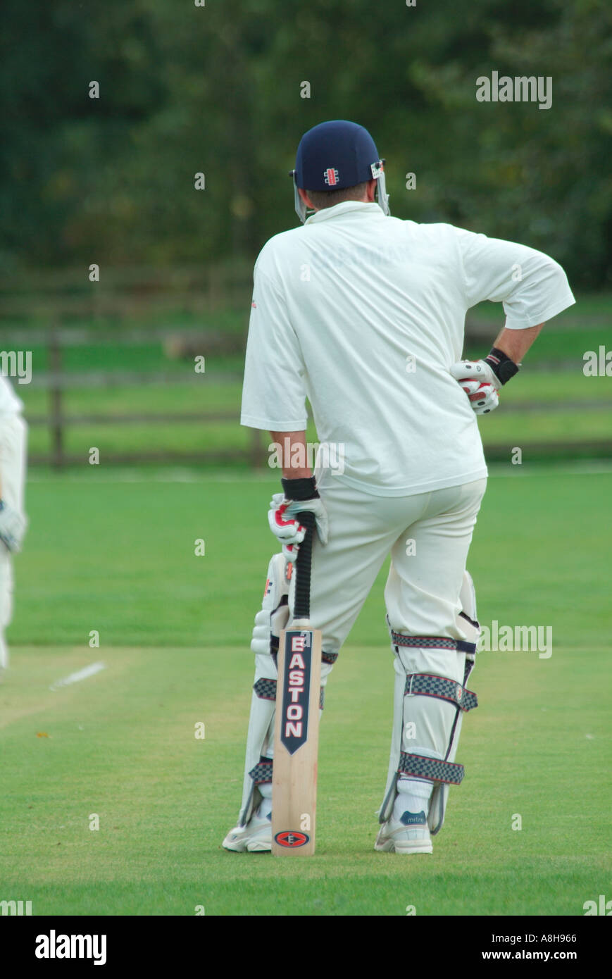
[[[324,652],[340,650],[389,553],[391,628],[465,638],[457,623],[459,590],[486,487],[480,479],[411,496],[374,496],[324,472],[318,489],[329,540],[323,545],[314,536],[310,584],[310,621],[322,630]],[[431,665],[431,652],[428,660]]]

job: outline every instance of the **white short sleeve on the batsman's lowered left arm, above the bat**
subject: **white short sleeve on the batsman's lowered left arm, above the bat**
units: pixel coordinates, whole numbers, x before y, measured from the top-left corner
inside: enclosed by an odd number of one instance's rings
[[[256,265],[242,391],[241,425],[306,429],[305,365],[279,287]]]

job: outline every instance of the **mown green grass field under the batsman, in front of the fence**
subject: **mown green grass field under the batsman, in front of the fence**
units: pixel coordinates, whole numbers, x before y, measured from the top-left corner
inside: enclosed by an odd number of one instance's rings
[[[582,915],[607,894],[612,474],[490,481],[470,558],[481,621],[551,626],[552,655],[480,654],[466,778],[432,856],[373,851],[393,693],[381,575],[328,684],[317,854],[289,862],[220,848],[240,801],[273,484],[104,475],[28,487],[0,685],[0,900],[34,914]],[[98,675],[49,689],[96,661]]]

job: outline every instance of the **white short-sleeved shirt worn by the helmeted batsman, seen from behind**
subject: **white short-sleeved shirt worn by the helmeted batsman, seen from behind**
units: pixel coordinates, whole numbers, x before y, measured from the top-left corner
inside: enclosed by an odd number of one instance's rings
[[[307,396],[319,442],[344,446],[336,478],[390,496],[487,475],[476,415],[448,373],[466,310],[501,302],[520,330],[575,302],[535,249],[358,201],[270,238],[254,282],[241,424],[303,431]]]

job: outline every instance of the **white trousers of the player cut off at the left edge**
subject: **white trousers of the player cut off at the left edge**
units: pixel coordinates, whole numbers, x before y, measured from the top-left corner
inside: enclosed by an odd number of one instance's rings
[[[0,415],[0,496],[24,514],[27,425],[20,414]],[[13,616],[13,562],[0,543],[0,668],[9,665],[5,629]]]

